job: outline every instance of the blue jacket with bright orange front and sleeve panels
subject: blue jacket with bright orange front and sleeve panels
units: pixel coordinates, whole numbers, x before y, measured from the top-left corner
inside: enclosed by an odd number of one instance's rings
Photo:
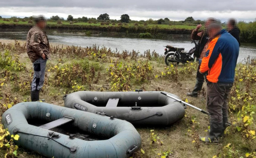
[[[200,65],[201,72],[207,72],[212,83],[233,83],[239,54],[239,43],[223,29],[209,43]]]

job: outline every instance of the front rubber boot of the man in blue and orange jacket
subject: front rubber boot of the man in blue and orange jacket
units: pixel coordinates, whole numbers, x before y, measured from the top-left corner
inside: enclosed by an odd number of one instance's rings
[[[219,124],[211,123],[210,133],[208,134],[208,136],[200,136],[199,140],[202,141],[203,143],[212,143],[212,144],[218,143],[219,142],[218,137],[222,133],[222,128],[223,128],[222,126],[223,126],[223,122]]]

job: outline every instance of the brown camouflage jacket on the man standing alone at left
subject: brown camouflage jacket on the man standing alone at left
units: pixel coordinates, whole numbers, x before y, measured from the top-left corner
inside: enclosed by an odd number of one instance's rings
[[[50,45],[48,37],[37,26],[29,30],[26,36],[26,50],[30,61],[35,62],[44,53],[46,58],[50,58]]]

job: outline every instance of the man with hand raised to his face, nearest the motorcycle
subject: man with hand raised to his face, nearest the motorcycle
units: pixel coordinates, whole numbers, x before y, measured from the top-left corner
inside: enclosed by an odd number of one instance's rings
[[[200,40],[199,41],[199,54],[197,57],[199,59],[202,59],[203,57],[205,57],[208,44],[211,42],[211,39],[209,39],[208,34],[207,34],[207,27],[209,24],[211,24],[211,22],[216,22],[216,19],[215,18],[207,18],[207,20],[205,22],[205,31],[198,33],[198,30],[202,27],[202,25],[200,24],[200,25],[196,26],[196,29],[194,29],[191,34],[191,39]],[[197,72],[196,72],[196,85],[194,87],[194,90],[192,91],[192,93],[187,93],[187,95],[190,97],[197,97],[198,92],[203,87],[204,75],[199,72],[199,69],[200,69],[200,65],[198,66]]]

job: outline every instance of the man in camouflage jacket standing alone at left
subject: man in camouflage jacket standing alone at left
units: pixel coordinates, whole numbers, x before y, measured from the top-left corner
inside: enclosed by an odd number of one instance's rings
[[[50,57],[48,37],[43,31],[46,18],[39,15],[35,18],[36,25],[30,29],[26,36],[26,49],[30,61],[33,63],[34,76],[31,83],[31,101],[39,100],[39,91],[45,80],[46,61]]]

